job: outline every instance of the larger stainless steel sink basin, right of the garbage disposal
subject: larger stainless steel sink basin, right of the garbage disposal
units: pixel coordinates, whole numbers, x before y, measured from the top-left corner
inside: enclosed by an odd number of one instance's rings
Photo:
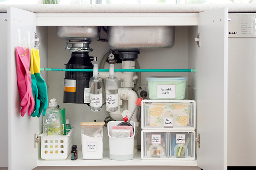
[[[174,46],[175,26],[108,26],[112,50],[136,51]]]

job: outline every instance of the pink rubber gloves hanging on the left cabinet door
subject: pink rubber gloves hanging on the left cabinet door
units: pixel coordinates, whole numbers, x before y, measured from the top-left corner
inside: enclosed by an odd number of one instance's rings
[[[31,74],[30,74],[30,55],[29,49],[23,47],[16,47],[16,72],[17,83],[22,107],[20,110],[21,116],[24,116],[28,111],[30,116],[34,109],[34,98],[31,87]]]

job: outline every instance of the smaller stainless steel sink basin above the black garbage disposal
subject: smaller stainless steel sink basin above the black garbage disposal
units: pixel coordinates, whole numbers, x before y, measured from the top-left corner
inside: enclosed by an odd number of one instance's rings
[[[99,26],[57,26],[57,34],[67,40],[91,40],[99,36]]]

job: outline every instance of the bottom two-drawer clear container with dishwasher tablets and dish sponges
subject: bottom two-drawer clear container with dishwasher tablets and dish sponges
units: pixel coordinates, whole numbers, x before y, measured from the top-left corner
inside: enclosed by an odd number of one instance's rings
[[[142,160],[195,160],[195,131],[142,130]]]

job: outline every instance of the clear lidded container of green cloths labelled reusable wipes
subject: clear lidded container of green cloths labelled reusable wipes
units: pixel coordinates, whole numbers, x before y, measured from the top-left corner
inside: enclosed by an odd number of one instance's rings
[[[149,98],[182,100],[185,98],[187,77],[147,77]]]

